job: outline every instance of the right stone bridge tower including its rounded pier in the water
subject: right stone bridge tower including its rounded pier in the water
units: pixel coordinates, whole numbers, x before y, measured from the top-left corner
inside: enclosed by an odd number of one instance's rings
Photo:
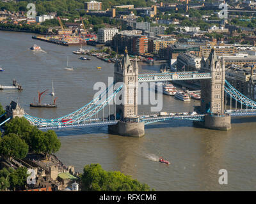
[[[200,111],[207,113],[204,126],[211,129],[228,130],[231,128],[230,115],[224,110],[225,61],[218,58],[214,48],[209,57],[201,60],[201,71],[210,72],[212,78],[202,80]]]

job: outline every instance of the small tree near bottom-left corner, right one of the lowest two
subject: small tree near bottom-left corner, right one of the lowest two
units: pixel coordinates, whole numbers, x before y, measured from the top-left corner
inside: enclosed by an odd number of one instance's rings
[[[27,177],[29,176],[27,174],[28,169],[26,167],[19,167],[17,170],[13,170],[12,168],[9,169],[10,171],[10,187],[13,191],[15,189],[24,189],[26,185]]]

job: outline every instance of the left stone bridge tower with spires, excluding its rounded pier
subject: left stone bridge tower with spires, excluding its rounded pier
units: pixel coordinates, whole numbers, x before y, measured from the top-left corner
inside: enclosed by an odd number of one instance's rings
[[[116,113],[120,119],[127,117],[137,117],[138,115],[138,64],[132,63],[129,59],[127,48],[125,48],[124,58],[115,63],[115,84],[123,82],[122,104],[116,105]],[[124,98],[122,98],[124,97]]]

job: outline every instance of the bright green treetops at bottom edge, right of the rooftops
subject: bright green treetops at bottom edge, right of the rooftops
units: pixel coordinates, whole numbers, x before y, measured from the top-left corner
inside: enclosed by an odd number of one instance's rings
[[[150,191],[147,184],[140,184],[120,171],[105,171],[100,164],[84,166],[81,180],[83,191]]]

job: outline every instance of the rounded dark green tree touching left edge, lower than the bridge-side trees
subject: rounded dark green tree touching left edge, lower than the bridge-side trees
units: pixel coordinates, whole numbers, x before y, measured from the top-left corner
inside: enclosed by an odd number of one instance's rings
[[[7,159],[22,159],[28,154],[28,145],[18,135],[10,133],[4,135],[0,141],[0,154]]]

